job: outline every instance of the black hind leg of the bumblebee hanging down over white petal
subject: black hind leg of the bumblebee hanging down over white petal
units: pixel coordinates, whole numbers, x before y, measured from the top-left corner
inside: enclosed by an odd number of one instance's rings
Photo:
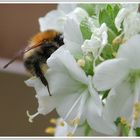
[[[44,84],[44,86],[47,87],[49,95],[52,96],[50,93],[48,81],[46,80],[46,78],[44,77],[44,74],[42,73],[39,62],[34,63],[34,69],[35,69],[36,76],[40,78],[40,80]]]

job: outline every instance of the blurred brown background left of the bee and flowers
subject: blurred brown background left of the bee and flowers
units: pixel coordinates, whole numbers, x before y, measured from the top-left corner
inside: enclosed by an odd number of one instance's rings
[[[39,32],[38,18],[55,8],[54,4],[0,4],[0,136],[47,136],[49,119],[56,117],[53,112],[29,123],[26,110],[33,114],[38,104],[34,89],[24,84],[28,77],[2,70],[3,60]],[[14,69],[19,70],[18,66]]]

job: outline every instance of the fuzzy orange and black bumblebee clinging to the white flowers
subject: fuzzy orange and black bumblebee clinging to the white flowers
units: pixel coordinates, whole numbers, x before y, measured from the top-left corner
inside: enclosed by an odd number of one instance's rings
[[[7,68],[18,57],[23,56],[23,63],[26,70],[32,76],[36,76],[41,80],[44,86],[48,88],[49,95],[51,96],[47,79],[44,77],[44,71],[47,69],[46,61],[63,44],[62,33],[56,30],[39,32],[31,38],[27,47],[20,50],[4,68]]]

